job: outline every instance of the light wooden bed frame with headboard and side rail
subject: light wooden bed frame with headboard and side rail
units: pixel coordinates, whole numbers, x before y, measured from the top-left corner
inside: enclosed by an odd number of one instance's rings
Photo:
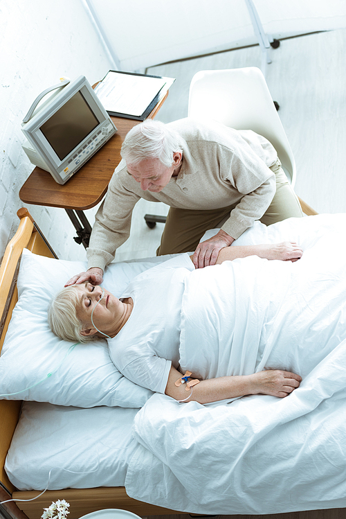
[[[0,267],[0,351],[12,310],[18,299],[16,283],[22,250],[26,248],[40,256],[57,257],[28,211],[19,209],[17,215],[20,218],[19,228],[6,247]],[[4,469],[6,455],[20,411],[21,401],[0,401],[0,501],[11,498],[15,500],[15,502],[0,505],[0,516],[3,513],[3,516],[12,516],[15,519],[39,519],[42,516],[43,508],[49,507],[51,502],[57,499],[64,499],[71,504],[69,519],[79,518],[86,513],[107,508],[129,510],[138,516],[179,513],[131,499],[122,486],[46,491],[33,501],[19,501],[35,498],[40,493],[39,491],[17,491],[8,480]]]

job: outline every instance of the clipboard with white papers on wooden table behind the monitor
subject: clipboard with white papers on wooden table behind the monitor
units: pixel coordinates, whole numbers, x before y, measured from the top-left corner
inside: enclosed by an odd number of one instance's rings
[[[110,116],[144,121],[174,81],[175,78],[110,70],[94,91]]]

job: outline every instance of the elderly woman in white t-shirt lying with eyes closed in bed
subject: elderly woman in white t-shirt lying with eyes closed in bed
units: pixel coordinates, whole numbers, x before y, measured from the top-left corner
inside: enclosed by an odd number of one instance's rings
[[[226,247],[220,251],[217,265],[209,269],[217,270],[226,260],[253,254],[294,262],[302,256],[302,249],[288,242]],[[281,370],[217,377],[194,373],[208,380],[197,385],[195,378],[193,390],[191,384],[180,384],[183,374],[179,371],[180,314],[185,283],[193,271],[188,254],[182,254],[137,276],[121,299],[88,281],[64,288],[48,313],[51,328],[67,340],[86,342],[107,337],[111,358],[127,378],[179,401],[209,403],[248,394],[283,397],[291,393],[301,378]],[[191,382],[191,378],[183,381],[187,380]]]

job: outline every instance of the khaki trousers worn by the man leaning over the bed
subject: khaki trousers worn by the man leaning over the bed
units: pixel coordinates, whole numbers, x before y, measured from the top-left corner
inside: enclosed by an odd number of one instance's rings
[[[276,193],[260,221],[265,225],[271,225],[292,216],[302,216],[302,208],[298,197],[291,188],[279,160],[271,166],[271,170],[276,177]],[[208,229],[220,227],[220,222],[227,218],[235,205],[208,211],[203,211],[203,209],[192,211],[171,207],[161,237],[161,245],[156,251],[157,256],[193,252],[203,234]]]

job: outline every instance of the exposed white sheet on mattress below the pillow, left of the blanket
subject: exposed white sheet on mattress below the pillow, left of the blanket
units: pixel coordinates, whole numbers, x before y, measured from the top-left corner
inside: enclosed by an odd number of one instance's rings
[[[19,490],[124,486],[138,409],[24,402],[6,458]]]

